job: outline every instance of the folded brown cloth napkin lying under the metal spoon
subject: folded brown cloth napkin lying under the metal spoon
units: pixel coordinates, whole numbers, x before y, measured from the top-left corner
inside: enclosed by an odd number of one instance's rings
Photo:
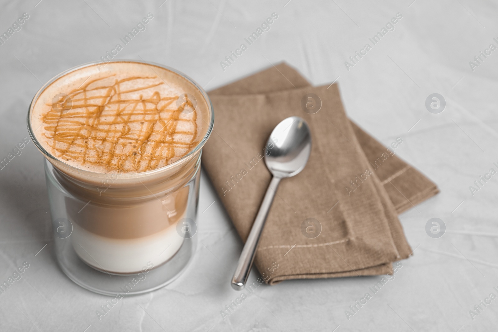
[[[307,94],[319,96],[317,113],[303,111]],[[271,178],[262,160],[268,135],[292,115],[310,125],[308,164],[280,183],[256,252],[267,283],[386,274],[408,257],[396,213],[437,188],[396,156],[382,157],[387,150],[346,117],[336,84],[311,87],[280,64],[209,95],[216,122],[203,165],[244,241]],[[320,229],[316,237],[308,225]]]

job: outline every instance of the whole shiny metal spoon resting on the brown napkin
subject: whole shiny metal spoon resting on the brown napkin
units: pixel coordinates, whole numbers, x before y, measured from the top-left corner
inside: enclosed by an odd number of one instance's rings
[[[232,279],[232,288],[237,291],[242,290],[248,280],[257,243],[280,180],[301,172],[308,162],[311,152],[308,124],[298,116],[287,117],[273,129],[265,147],[264,162],[273,178],[264,194]]]

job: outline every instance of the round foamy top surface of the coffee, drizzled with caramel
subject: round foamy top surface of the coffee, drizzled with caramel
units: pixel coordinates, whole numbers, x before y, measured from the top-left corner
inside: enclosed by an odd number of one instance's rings
[[[139,173],[194,149],[210,121],[202,93],[183,76],[137,62],[71,71],[31,106],[31,128],[56,159],[99,173]]]

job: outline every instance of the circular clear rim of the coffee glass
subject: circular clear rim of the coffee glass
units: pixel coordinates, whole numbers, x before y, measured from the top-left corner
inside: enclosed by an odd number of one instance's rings
[[[106,61],[105,63],[107,64],[109,62],[133,62],[133,63],[146,64],[148,66],[156,66],[156,67],[159,67],[159,68],[162,68],[162,69],[166,69],[166,70],[168,70],[170,72],[173,72],[173,73],[175,73],[175,74],[183,77],[184,79],[186,79],[196,89],[199,90],[199,92],[201,93],[201,95],[204,97],[204,99],[206,101],[206,104],[208,105],[208,113],[210,115],[210,121],[208,123],[208,130],[206,131],[206,134],[200,140],[200,142],[189,153],[187,153],[186,155],[184,155],[183,157],[181,157],[177,161],[175,161],[175,162],[173,162],[171,164],[168,164],[166,166],[163,166],[163,167],[160,167],[160,168],[156,168],[156,169],[152,169],[152,170],[145,171],[145,172],[137,172],[137,173],[100,173],[100,172],[93,172],[93,171],[88,171],[88,170],[84,170],[84,169],[81,169],[81,168],[69,165],[69,164],[65,163],[64,161],[62,161],[60,159],[57,159],[51,153],[49,153],[42,146],[42,144],[38,141],[38,139],[36,138],[36,136],[34,134],[34,131],[32,129],[32,126],[31,126],[32,109],[34,107],[35,102],[38,100],[38,97],[41,95],[41,93],[43,91],[45,91],[46,88],[48,88],[53,82],[55,82],[59,78],[65,76],[65,75],[67,75],[69,73],[72,73],[72,72],[74,72],[76,70],[79,70],[79,69],[82,69],[82,68],[86,68],[86,67],[90,67],[90,66],[93,66],[93,65],[98,65],[99,63],[102,63],[102,61],[92,61],[92,62],[87,62],[87,63],[81,64],[81,65],[69,68],[69,69],[67,69],[67,70],[65,70],[65,71],[57,74],[53,78],[51,78],[47,83],[45,83],[36,92],[36,94],[34,95],[31,103],[29,104],[28,114],[27,114],[28,133],[29,133],[29,136],[31,137],[31,140],[33,141],[33,143],[36,145],[36,147],[38,148],[38,150],[41,151],[41,153],[43,154],[43,156],[45,158],[47,158],[47,159],[50,158],[50,159],[54,160],[55,164],[62,163],[62,164],[65,165],[65,167],[67,167],[68,169],[71,169],[73,172],[81,174],[81,175],[84,175],[84,176],[89,176],[89,177],[93,177],[93,178],[101,178],[101,177],[105,177],[105,176],[109,176],[109,175],[113,175],[113,174],[119,174],[119,177],[121,179],[133,179],[133,178],[138,178],[138,177],[146,177],[146,176],[150,176],[150,175],[156,175],[156,174],[159,174],[159,173],[162,173],[162,172],[166,172],[167,170],[173,169],[176,166],[178,166],[179,164],[183,163],[185,160],[189,159],[191,156],[193,156],[196,153],[198,153],[200,149],[202,149],[202,147],[204,146],[204,144],[208,140],[209,136],[211,135],[211,132],[213,131],[214,120],[215,120],[215,113],[214,113],[214,109],[213,109],[213,104],[211,103],[211,99],[209,98],[208,94],[204,91],[204,89],[202,87],[200,87],[193,79],[191,79],[189,76],[185,75],[184,73],[182,73],[182,72],[180,72],[180,71],[178,71],[178,70],[176,70],[174,68],[171,68],[171,67],[159,64],[159,63],[150,62],[150,61],[141,61],[141,60],[129,60],[129,59],[109,60],[109,61]],[[37,129],[38,128],[36,128],[35,131]],[[51,161],[50,159],[49,159],[49,161]],[[51,164],[53,164],[53,163],[51,162]],[[55,164],[54,164],[54,166],[55,166]]]

